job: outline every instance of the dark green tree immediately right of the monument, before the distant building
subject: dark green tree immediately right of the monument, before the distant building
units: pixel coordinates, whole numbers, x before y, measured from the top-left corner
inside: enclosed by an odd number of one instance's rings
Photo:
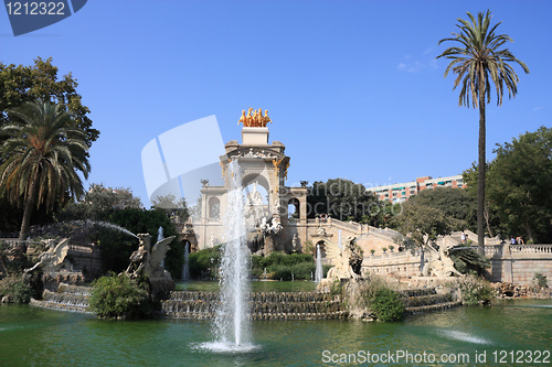
[[[328,214],[340,220],[367,223],[381,212],[381,205],[364,185],[343,179],[315,182],[307,196],[310,218]]]

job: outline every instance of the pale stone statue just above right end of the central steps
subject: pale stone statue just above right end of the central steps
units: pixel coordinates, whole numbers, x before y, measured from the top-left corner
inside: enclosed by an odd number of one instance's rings
[[[359,279],[362,267],[362,257],[357,245],[355,237],[347,237],[344,246],[338,246],[329,239],[322,239],[326,244],[326,256],[331,259],[333,267],[328,271],[327,279]]]

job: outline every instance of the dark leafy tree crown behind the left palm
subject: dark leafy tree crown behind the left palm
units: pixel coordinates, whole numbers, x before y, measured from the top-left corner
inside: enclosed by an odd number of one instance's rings
[[[92,128],[91,110],[82,104],[77,86],[71,73],[57,79],[57,67],[52,65],[52,57],[38,57],[32,66],[0,63],[0,127],[17,122],[14,116],[8,114],[9,109],[41,99],[57,104],[61,111],[68,112],[73,117],[70,127],[84,131],[84,140],[88,148],[92,147],[99,131]]]

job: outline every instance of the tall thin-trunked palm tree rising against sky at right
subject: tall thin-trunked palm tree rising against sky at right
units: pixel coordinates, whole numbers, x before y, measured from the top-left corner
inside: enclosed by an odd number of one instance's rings
[[[464,19],[458,19],[459,24],[456,24],[460,31],[453,33],[453,37],[443,39],[439,44],[445,41],[454,41],[459,43],[459,46],[445,50],[439,57],[450,58],[445,71],[445,77],[450,71],[457,74],[454,82],[454,89],[461,83],[461,90],[458,98],[458,106],[469,107],[470,100],[474,108],[479,107],[479,162],[478,162],[478,182],[477,182],[477,237],[479,244],[479,253],[485,252],[485,145],[486,145],[486,128],[485,128],[485,97],[487,102],[490,101],[491,82],[497,91],[497,106],[502,105],[502,95],[505,86],[508,88],[508,96],[516,97],[518,93],[518,75],[509,63],[516,63],[523,68],[523,72],[529,73],[527,65],[517,60],[508,48],[500,48],[507,42],[513,42],[506,34],[495,34],[496,29],[501,22],[490,26],[492,15],[488,10],[487,13],[478,13],[477,20],[467,13],[471,23]]]

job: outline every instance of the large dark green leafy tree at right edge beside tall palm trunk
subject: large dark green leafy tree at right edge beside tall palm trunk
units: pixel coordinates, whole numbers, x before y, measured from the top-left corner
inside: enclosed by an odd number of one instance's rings
[[[495,215],[509,235],[552,240],[552,128],[526,132],[493,152],[486,187]],[[477,183],[475,170],[466,176],[468,185]]]

